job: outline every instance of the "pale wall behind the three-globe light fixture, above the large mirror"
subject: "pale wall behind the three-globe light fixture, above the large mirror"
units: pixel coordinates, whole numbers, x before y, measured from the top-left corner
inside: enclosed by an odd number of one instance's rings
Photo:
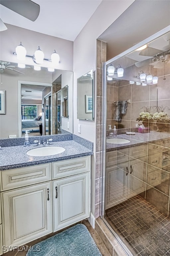
[[[0,32],[0,60],[18,63],[13,52],[17,45],[22,42],[28,55],[34,55],[40,46],[44,52],[44,58],[51,59],[54,49],[60,56],[58,69],[73,70],[73,42],[58,37],[45,35],[28,29],[6,24],[7,30]],[[33,65],[32,58],[26,57],[25,64]],[[42,67],[49,67],[51,63],[44,61]]]

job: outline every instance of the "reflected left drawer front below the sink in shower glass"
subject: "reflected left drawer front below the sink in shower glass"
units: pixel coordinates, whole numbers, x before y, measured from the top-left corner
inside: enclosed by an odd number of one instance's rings
[[[129,148],[106,153],[106,167],[127,162],[129,160]]]

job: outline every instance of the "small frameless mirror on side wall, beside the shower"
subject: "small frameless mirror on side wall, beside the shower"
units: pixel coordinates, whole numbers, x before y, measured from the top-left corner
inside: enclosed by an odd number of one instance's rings
[[[77,119],[93,121],[93,70],[77,79]]]

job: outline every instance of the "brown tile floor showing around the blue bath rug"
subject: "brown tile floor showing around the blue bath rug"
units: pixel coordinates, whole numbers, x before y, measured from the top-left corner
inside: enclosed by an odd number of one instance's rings
[[[108,252],[106,246],[105,246],[104,243],[102,242],[101,238],[100,238],[99,235],[97,234],[96,230],[92,228],[92,226],[90,225],[90,223],[88,222],[88,220],[83,220],[83,221],[81,221],[81,222],[79,222],[79,223],[82,223],[82,224],[84,224],[84,225],[87,227],[87,229],[89,230],[89,232],[90,232],[91,236],[93,237],[95,243],[97,244],[97,246],[98,246],[98,248],[99,248],[101,254],[102,254],[103,256],[111,256],[110,253]],[[77,223],[76,223],[76,224],[77,224]],[[76,224],[74,224],[74,225],[76,225]],[[74,225],[72,225],[72,226],[74,226]],[[67,228],[68,228],[68,227],[67,227]],[[65,228],[65,229],[67,229],[67,228]],[[44,237],[42,237],[42,238],[39,238],[39,239],[36,239],[36,240],[34,240],[34,241],[30,242],[30,243],[27,243],[26,245],[21,246],[20,249],[19,249],[19,251],[18,251],[18,249],[17,249],[17,250],[15,250],[15,251],[7,252],[7,253],[5,253],[5,254],[3,254],[3,255],[4,255],[4,256],[25,256],[25,255],[27,254],[27,252],[25,251],[25,249],[27,248],[27,246],[28,246],[28,248],[29,248],[30,246],[33,246],[34,244],[39,243],[39,242],[41,242],[42,240],[45,240],[45,239],[47,239],[47,238],[49,238],[49,237],[51,237],[51,236],[53,236],[53,235],[55,235],[55,234],[57,234],[57,233],[63,231],[63,230],[65,230],[65,229],[62,229],[62,230],[57,231],[57,232],[55,232],[55,233],[51,233],[51,234],[46,235],[46,236],[44,236]],[[70,255],[70,256],[71,256],[71,255]],[[82,256],[83,256],[83,255],[82,255]]]

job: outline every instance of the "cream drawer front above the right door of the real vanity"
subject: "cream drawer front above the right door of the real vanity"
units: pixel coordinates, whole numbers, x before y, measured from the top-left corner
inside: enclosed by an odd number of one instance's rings
[[[90,157],[80,157],[52,163],[52,179],[89,172],[91,168],[90,159]]]

